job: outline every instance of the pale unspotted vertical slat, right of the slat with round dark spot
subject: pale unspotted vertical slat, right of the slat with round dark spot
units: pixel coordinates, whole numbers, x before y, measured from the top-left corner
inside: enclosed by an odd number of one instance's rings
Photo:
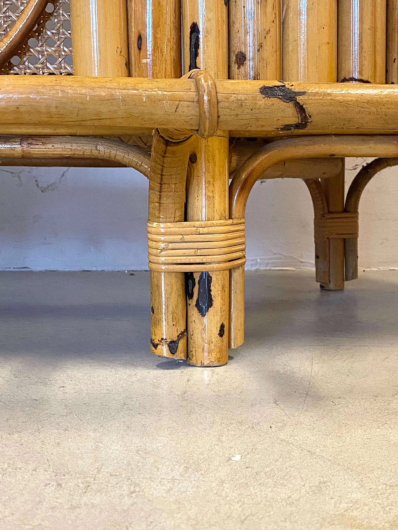
[[[282,57],[282,79],[336,81],[336,0],[282,0]]]

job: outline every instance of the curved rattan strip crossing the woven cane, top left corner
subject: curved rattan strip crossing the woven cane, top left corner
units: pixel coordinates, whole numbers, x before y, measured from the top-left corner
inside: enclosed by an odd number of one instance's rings
[[[48,0],[30,0],[24,8],[11,30],[0,41],[0,67],[19,51],[47,4]]]

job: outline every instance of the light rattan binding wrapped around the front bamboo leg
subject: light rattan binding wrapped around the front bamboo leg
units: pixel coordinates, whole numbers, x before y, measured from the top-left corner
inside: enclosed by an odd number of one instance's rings
[[[245,219],[148,222],[150,270],[200,272],[228,270],[246,262]]]

